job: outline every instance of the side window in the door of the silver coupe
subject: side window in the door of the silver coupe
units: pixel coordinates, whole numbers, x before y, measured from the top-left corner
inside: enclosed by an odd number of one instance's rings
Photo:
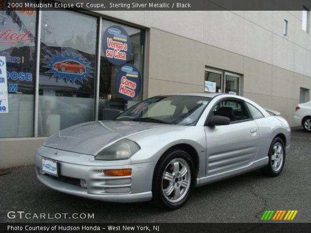
[[[226,116],[230,122],[247,120],[251,117],[245,107],[245,103],[240,100],[223,100],[213,109],[213,114],[217,116]]]

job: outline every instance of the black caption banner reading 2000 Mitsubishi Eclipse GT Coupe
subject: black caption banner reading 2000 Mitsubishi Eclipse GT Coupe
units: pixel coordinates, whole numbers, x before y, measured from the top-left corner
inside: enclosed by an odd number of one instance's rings
[[[62,0],[40,2],[30,0],[2,0],[6,10],[62,10],[92,11],[215,11],[215,10],[295,10],[311,9],[311,0]]]

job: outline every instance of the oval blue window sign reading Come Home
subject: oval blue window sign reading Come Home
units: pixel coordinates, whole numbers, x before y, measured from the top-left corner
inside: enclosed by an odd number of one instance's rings
[[[141,89],[141,77],[138,69],[130,64],[121,67],[117,73],[116,86],[119,95],[125,100],[137,97]]]

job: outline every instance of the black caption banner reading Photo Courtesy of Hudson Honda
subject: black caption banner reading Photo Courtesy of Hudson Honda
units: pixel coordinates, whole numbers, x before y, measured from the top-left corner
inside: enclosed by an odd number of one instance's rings
[[[0,223],[1,233],[306,233],[311,223]]]

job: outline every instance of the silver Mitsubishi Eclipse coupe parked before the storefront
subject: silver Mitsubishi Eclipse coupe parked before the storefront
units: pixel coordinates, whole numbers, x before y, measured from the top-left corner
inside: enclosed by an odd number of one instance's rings
[[[156,96],[111,121],[49,137],[35,153],[37,179],[95,200],[153,200],[176,209],[194,186],[254,169],[277,176],[290,127],[246,98],[218,93]]]

